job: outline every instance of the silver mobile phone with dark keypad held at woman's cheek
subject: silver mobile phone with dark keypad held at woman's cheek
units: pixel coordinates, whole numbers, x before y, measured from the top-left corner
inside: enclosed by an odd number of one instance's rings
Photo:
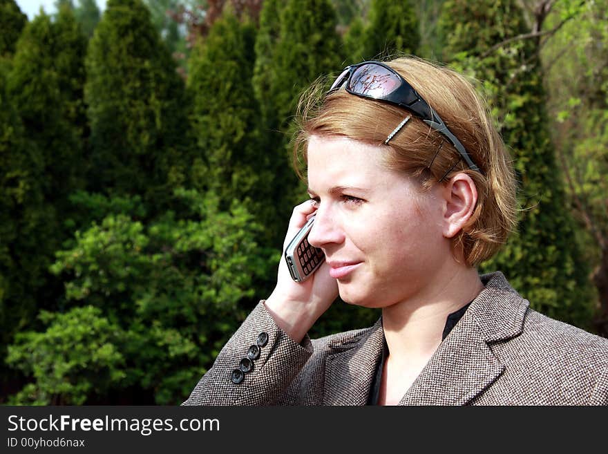
[[[285,249],[285,261],[287,268],[296,282],[304,282],[310,278],[321,263],[325,260],[325,254],[319,249],[308,243],[308,234],[312,229],[314,216],[298,231],[296,236],[289,242]]]

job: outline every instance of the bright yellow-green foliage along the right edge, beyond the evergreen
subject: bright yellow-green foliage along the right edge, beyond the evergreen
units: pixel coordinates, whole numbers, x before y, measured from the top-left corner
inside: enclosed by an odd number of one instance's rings
[[[598,330],[608,333],[608,14],[606,2],[558,3],[547,18],[559,32],[544,46],[549,117],[567,176],[569,202],[593,269],[602,314]]]

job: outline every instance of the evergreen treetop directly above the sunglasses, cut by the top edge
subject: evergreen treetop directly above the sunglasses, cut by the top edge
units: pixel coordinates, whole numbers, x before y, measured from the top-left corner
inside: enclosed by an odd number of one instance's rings
[[[420,44],[416,11],[408,0],[372,0],[364,34],[364,57],[414,54]]]

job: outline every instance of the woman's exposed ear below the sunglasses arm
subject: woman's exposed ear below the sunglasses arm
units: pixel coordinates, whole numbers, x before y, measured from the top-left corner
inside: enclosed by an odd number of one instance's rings
[[[453,238],[466,225],[477,205],[477,187],[466,173],[457,173],[444,187],[444,227],[446,238]]]

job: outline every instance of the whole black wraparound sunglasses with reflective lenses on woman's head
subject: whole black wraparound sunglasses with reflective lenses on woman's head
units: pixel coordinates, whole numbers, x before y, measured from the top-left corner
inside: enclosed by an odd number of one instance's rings
[[[448,129],[437,112],[422,99],[406,79],[403,79],[390,66],[374,61],[347,66],[341,75],[336,78],[328,93],[339,90],[343,86],[351,95],[384,101],[406,108],[435,131],[443,134],[453,144],[469,169],[482,173],[471,159],[471,155]]]

